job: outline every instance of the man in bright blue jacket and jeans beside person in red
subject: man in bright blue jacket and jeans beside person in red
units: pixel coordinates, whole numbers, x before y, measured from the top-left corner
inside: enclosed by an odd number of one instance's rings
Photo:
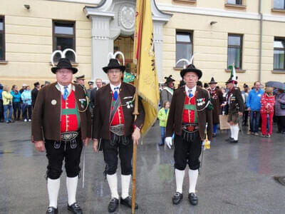
[[[252,88],[252,91],[249,91],[249,96],[247,97],[247,110],[250,111],[250,129],[254,136],[259,136],[260,99],[263,93],[264,90],[260,88],[260,82],[256,81],[254,82],[254,88]]]

